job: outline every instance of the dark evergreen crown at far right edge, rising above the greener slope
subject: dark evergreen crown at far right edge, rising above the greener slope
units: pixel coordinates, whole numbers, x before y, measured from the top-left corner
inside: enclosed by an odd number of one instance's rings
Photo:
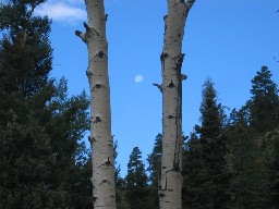
[[[262,66],[252,79],[251,125],[259,133],[271,131],[279,124],[278,88],[271,76],[268,67]]]

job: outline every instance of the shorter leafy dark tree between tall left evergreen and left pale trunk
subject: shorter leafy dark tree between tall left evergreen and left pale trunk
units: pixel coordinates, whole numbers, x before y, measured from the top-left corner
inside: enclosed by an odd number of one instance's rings
[[[84,138],[88,130],[88,99],[83,91],[78,96],[68,95],[66,81],[62,77],[56,84],[56,93],[47,104],[46,131],[51,138],[56,164],[51,182],[56,187],[66,190],[66,201],[75,208],[90,208],[92,164]]]

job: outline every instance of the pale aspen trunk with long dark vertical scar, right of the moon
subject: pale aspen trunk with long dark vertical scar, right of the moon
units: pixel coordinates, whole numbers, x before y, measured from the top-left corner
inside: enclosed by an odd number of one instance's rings
[[[162,159],[159,185],[161,209],[181,209],[182,199],[182,81],[181,53],[186,16],[195,0],[168,0],[161,54]]]

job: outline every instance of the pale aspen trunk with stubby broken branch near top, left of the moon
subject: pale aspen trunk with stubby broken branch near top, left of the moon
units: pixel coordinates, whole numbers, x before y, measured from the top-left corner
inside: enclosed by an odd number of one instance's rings
[[[75,34],[88,49],[86,72],[90,88],[90,136],[93,163],[93,201],[95,209],[116,209],[114,159],[111,136],[108,42],[104,0],[85,0],[88,24]]]

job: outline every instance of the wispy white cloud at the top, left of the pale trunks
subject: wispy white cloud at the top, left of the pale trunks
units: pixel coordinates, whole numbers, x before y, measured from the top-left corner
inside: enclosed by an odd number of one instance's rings
[[[86,12],[82,8],[83,0],[49,0],[36,8],[38,15],[48,15],[50,19],[62,23],[76,23],[86,20]]]

